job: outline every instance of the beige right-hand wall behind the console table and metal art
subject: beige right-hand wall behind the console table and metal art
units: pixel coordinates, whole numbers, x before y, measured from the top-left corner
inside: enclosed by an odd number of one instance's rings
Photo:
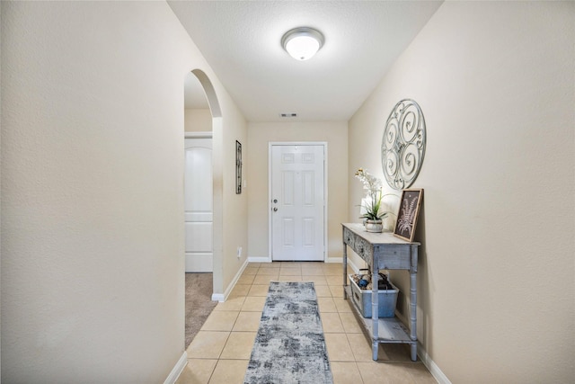
[[[381,175],[394,104],[425,115],[418,334],[451,382],[575,377],[574,21],[572,2],[447,2],[349,121],[349,168]]]

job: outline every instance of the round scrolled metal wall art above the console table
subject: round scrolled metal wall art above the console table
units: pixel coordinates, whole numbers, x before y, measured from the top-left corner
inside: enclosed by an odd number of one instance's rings
[[[381,144],[381,166],[390,187],[409,188],[420,174],[425,135],[425,119],[418,103],[404,99],[395,104]]]

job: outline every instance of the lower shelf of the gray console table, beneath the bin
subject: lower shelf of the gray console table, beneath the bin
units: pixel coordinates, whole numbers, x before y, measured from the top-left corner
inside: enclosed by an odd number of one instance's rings
[[[351,289],[349,285],[345,287],[348,298],[351,297]],[[363,317],[359,308],[349,300],[350,307],[354,309],[356,317],[358,317],[364,329],[367,331],[369,337],[378,343],[417,343],[416,340],[411,340],[409,329],[403,325],[398,317],[380,317],[377,319],[377,337],[373,334],[373,319],[370,317]]]

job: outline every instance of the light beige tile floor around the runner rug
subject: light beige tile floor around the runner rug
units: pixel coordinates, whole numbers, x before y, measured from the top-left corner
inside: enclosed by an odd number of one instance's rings
[[[379,360],[371,359],[370,342],[343,299],[341,274],[341,263],[250,263],[192,340],[176,383],[243,383],[270,281],[314,281],[334,384],[437,383],[422,362],[411,362],[405,344],[380,345]]]

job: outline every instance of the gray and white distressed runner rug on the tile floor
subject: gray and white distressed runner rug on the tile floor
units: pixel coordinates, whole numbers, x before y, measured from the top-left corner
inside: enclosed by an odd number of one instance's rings
[[[333,382],[313,282],[270,282],[243,382]]]

